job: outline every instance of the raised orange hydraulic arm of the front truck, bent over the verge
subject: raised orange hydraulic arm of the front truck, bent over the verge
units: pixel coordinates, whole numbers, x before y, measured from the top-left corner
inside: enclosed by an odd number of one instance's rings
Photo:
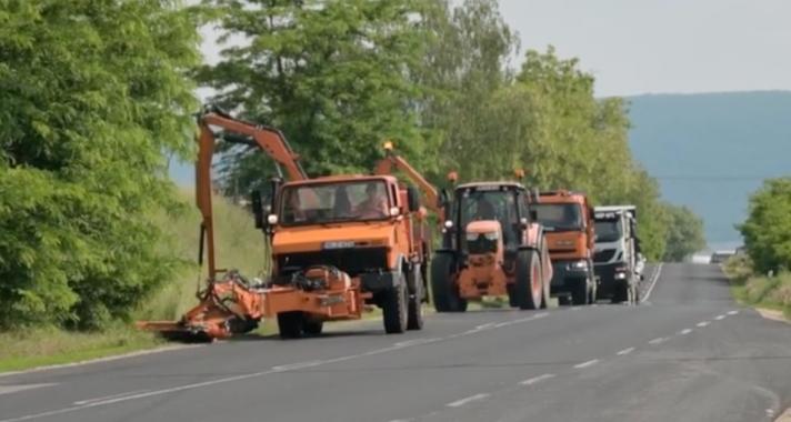
[[[196,162],[196,202],[203,218],[201,234],[206,235],[209,278],[214,280],[218,269],[214,261],[211,159],[214,155],[218,134],[211,130],[210,125],[222,128],[222,139],[226,142],[261,149],[279,165],[286,168],[289,180],[306,180],[308,175],[299,163],[299,155],[291,150],[291,145],[279,130],[234,119],[217,108],[207,108],[198,117],[200,134],[198,138],[198,161]]]

